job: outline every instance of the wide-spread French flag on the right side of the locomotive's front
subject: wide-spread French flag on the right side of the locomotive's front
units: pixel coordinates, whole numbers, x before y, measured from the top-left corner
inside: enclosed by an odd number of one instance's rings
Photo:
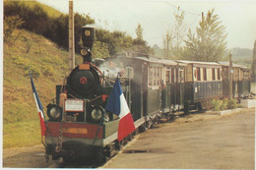
[[[109,95],[105,109],[116,114],[120,118],[118,126],[118,142],[134,132],[135,126],[133,118],[118,78],[115,80],[114,87]]]

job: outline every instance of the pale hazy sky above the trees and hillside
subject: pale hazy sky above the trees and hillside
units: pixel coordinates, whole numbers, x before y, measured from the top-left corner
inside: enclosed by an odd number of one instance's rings
[[[38,0],[68,14],[68,0]],[[195,32],[204,15],[215,8],[227,32],[227,47],[253,48],[256,39],[256,1],[168,1],[168,0],[74,0],[74,12],[89,14],[97,28],[121,30],[136,37],[138,24],[153,46],[173,27],[177,7],[184,11],[185,24]],[[185,32],[186,34],[186,32]],[[186,37],[186,35],[185,35]]]

